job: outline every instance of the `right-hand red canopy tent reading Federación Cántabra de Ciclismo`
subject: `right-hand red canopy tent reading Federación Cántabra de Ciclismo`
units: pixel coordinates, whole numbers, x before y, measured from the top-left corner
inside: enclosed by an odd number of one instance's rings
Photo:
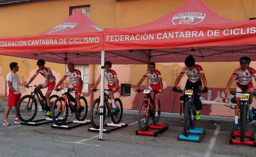
[[[137,27],[104,30],[104,50],[137,61],[197,62],[256,60],[256,20],[223,18],[202,0],[188,0],[177,10]]]

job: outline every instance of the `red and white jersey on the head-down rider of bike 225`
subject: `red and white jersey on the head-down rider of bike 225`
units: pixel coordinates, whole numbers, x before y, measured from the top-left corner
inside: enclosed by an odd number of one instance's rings
[[[200,65],[195,64],[192,70],[189,70],[187,66],[185,66],[182,70],[180,75],[187,74],[188,80],[190,82],[201,82],[201,74],[203,74],[203,68]]]

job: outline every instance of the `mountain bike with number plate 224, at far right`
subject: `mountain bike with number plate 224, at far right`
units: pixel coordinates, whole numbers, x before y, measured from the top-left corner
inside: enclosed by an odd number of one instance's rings
[[[241,99],[239,102],[239,115],[238,115],[238,123],[239,123],[239,130],[240,130],[240,141],[245,141],[245,130],[247,128],[248,120],[249,120],[249,96],[254,95],[256,93],[251,92],[229,92],[232,95],[235,93],[242,93]]]

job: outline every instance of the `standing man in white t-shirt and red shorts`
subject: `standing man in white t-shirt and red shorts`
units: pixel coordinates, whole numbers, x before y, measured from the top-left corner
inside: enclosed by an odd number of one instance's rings
[[[9,126],[7,117],[9,115],[9,111],[12,106],[15,107],[14,123],[20,123],[20,119],[18,119],[18,114],[17,114],[17,110],[16,110],[18,101],[21,99],[19,80],[18,80],[18,76],[16,75],[16,72],[18,71],[19,67],[18,67],[18,63],[16,63],[16,62],[10,63],[9,66],[10,66],[11,72],[9,72],[6,76],[8,100],[7,100],[7,108],[5,109],[5,119],[3,122],[4,126]]]

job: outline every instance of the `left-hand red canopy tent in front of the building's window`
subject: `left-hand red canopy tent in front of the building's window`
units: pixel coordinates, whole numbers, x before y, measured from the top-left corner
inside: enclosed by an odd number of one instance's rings
[[[100,64],[103,50],[103,30],[81,11],[42,33],[0,38],[0,54],[49,62],[75,64]],[[128,58],[114,54],[106,59],[122,63]]]

